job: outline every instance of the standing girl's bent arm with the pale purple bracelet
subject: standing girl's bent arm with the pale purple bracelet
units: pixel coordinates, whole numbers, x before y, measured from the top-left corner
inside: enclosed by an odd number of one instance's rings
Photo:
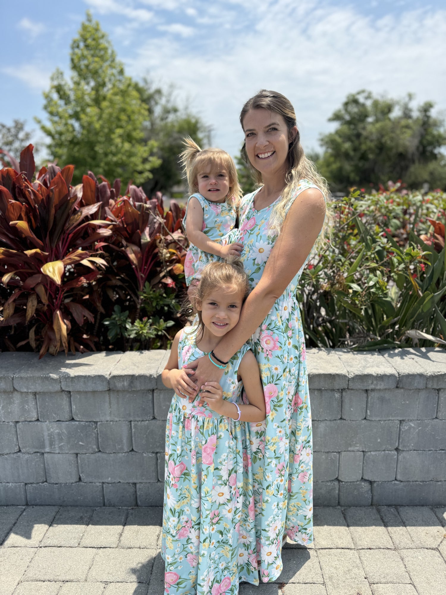
[[[265,397],[263,396],[262,381],[260,380],[259,365],[252,351],[247,351],[238,368],[243,381],[243,387],[249,401],[249,405],[240,404],[240,421],[263,421],[266,417]],[[207,382],[200,393],[201,398],[208,403],[212,411],[224,417],[238,418],[238,409],[223,399],[221,386],[217,382]]]

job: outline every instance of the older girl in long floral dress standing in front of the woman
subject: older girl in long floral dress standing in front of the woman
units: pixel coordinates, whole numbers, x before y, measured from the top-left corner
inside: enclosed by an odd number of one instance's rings
[[[253,483],[246,422],[265,419],[259,367],[248,345],[229,362],[213,355],[240,316],[248,292],[241,262],[202,271],[196,322],[175,336],[162,381],[175,395],[166,427],[162,557],[165,593],[237,595],[239,581],[258,584]],[[195,388],[189,362],[206,355],[224,369],[220,384]],[[241,401],[242,388],[246,402]]]

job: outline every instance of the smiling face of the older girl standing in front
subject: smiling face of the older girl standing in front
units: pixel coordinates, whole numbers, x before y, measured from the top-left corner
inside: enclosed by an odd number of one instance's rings
[[[240,290],[234,287],[214,290],[201,304],[203,324],[212,334],[222,337],[237,324],[241,306],[243,293]]]

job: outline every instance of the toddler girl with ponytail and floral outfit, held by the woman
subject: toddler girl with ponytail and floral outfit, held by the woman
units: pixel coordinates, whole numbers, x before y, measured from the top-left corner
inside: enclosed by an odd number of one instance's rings
[[[242,192],[230,155],[222,149],[202,151],[190,137],[184,139],[184,145],[180,159],[191,193],[183,219],[190,242],[184,262],[189,287],[197,284],[208,262],[240,256],[243,244],[228,245],[225,236],[235,226]]]

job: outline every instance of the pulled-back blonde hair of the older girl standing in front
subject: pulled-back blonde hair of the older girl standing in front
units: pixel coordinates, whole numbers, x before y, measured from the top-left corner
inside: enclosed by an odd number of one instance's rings
[[[203,336],[205,324],[202,318],[202,311],[197,309],[197,303],[202,305],[209,293],[221,290],[223,287],[239,289],[243,295],[243,301],[249,293],[248,275],[243,268],[243,262],[238,256],[228,256],[225,261],[210,262],[202,270],[200,283],[197,285],[196,293],[191,300],[193,314],[198,318],[197,338]]]

